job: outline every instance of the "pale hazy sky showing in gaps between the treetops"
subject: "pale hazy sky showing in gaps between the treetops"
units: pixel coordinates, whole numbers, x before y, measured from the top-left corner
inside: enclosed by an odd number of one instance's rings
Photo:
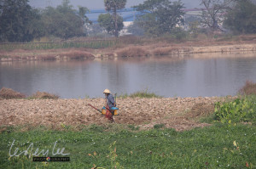
[[[144,0],[127,0],[126,8],[143,3]],[[30,0],[30,4],[35,8],[45,8],[47,6],[57,6],[61,4],[62,0]],[[90,9],[104,8],[104,0],[70,0],[74,8],[79,5]],[[198,7],[201,0],[182,0],[186,8]]]

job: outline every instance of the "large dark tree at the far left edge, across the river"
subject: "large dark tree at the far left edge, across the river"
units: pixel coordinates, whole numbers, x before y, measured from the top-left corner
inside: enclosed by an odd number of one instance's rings
[[[28,0],[0,1],[0,41],[29,42],[44,34],[38,24],[39,11]]]

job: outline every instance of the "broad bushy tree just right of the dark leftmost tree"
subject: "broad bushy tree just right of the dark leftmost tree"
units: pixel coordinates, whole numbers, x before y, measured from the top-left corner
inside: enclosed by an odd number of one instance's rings
[[[76,14],[68,0],[64,0],[57,8],[47,7],[42,14],[46,35],[65,39],[85,36],[84,22],[87,20],[81,15],[86,13],[86,9],[80,8],[79,14]]]

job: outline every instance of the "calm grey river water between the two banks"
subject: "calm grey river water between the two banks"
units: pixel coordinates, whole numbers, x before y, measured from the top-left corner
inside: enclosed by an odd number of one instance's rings
[[[164,97],[235,95],[256,82],[256,54],[194,54],[183,57],[0,63],[0,88],[64,99],[148,90]]]

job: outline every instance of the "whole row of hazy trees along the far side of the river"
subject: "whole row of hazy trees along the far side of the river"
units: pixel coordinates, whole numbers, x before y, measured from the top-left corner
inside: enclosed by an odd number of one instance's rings
[[[89,9],[73,9],[69,0],[56,8],[32,8],[29,0],[0,0],[0,42],[31,42],[40,37],[86,37],[91,31],[106,31],[119,37],[124,27],[118,10],[126,0],[103,0],[108,14],[100,14],[98,27],[86,17]],[[201,0],[200,19],[189,23],[189,31],[232,31],[256,33],[256,5],[252,0]],[[146,0],[134,6],[139,12],[129,31],[136,35],[160,37],[183,31],[184,4],[178,0]]]

